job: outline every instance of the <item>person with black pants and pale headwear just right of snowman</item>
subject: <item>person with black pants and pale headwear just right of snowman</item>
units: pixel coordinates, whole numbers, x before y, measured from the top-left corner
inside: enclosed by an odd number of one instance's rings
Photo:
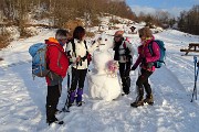
[[[132,44],[126,41],[123,36],[124,31],[116,31],[114,34],[114,61],[118,61],[119,64],[119,74],[122,78],[122,86],[123,86],[123,94],[128,95],[129,94],[129,87],[130,87],[130,78],[129,78],[129,72],[132,66],[132,59],[134,56],[134,48]]]

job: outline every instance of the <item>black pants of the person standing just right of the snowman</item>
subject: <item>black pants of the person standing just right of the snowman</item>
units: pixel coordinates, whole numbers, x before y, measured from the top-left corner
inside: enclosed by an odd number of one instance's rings
[[[129,92],[130,87],[130,78],[129,78],[129,72],[130,72],[130,62],[127,63],[118,63],[119,64],[119,74],[123,85],[123,91],[125,94]]]

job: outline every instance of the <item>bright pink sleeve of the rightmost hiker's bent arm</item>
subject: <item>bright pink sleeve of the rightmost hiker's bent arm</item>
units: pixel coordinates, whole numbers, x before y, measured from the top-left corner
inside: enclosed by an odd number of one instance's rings
[[[153,48],[154,55],[146,57],[146,63],[156,62],[160,57],[159,46],[156,42],[153,42],[151,48]]]

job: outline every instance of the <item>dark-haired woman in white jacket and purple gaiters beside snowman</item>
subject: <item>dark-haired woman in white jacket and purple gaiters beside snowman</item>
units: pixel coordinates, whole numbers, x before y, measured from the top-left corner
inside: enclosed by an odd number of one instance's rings
[[[76,106],[82,106],[82,95],[84,80],[87,74],[91,54],[97,46],[97,42],[87,47],[85,38],[85,29],[76,26],[73,32],[73,40],[66,46],[67,56],[72,66],[72,81],[69,90],[69,105],[71,107],[76,99]],[[78,87],[77,87],[78,86]]]

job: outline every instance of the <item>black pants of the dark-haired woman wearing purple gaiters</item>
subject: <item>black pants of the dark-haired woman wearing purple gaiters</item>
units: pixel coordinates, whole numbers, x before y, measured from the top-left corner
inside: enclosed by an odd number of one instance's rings
[[[84,88],[84,81],[87,74],[87,69],[76,69],[72,67],[72,84],[70,91],[75,91],[78,84],[78,88]]]

